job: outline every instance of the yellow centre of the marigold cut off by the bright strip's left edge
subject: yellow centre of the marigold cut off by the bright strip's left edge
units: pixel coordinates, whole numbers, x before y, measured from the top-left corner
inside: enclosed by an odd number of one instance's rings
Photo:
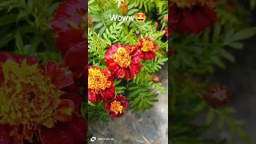
[[[94,68],[89,69],[88,76],[88,88],[91,90],[105,90],[111,86],[111,81],[107,80],[107,77],[102,73],[101,70],[97,70]]]

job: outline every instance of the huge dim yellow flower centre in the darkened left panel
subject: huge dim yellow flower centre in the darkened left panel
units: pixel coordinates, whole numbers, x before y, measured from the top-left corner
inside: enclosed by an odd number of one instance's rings
[[[0,123],[10,126],[54,126],[54,111],[63,92],[49,77],[26,61],[2,63],[3,82],[0,84]]]

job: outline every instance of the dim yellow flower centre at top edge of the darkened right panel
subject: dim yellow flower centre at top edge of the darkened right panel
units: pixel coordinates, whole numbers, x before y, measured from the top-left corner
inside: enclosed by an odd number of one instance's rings
[[[196,4],[205,4],[205,0],[172,0],[172,3],[175,3],[178,7],[191,7]]]

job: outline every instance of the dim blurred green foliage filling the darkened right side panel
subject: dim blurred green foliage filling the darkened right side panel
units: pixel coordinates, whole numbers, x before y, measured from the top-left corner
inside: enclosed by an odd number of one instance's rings
[[[250,142],[242,128],[244,121],[232,116],[234,108],[212,108],[203,100],[202,90],[212,84],[214,70],[225,69],[235,62],[232,52],[241,50],[244,40],[256,34],[256,27],[250,26],[255,6],[255,0],[218,1],[218,22],[214,26],[201,34],[171,34],[170,47],[174,50],[169,63],[171,143],[232,143],[236,138]],[[209,129],[228,130],[231,138],[218,138],[216,134],[204,138]]]

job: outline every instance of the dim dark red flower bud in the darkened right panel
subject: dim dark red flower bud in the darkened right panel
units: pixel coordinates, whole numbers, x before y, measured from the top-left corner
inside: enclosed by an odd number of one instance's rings
[[[218,109],[230,102],[230,90],[226,86],[214,84],[202,91],[202,98],[214,109]]]

